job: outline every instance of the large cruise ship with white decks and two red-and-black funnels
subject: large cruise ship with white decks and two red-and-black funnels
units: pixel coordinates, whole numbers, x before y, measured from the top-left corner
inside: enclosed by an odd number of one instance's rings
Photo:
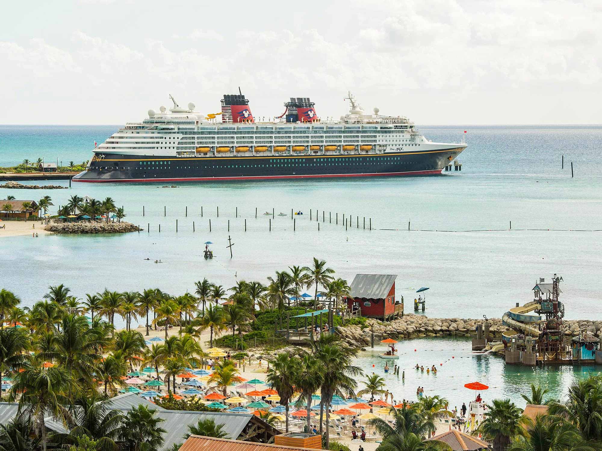
[[[318,117],[308,97],[291,97],[284,113],[256,120],[241,93],[220,111],[194,103],[148,111],[96,147],[74,182],[173,182],[440,174],[466,147],[433,143],[403,116],[367,113],[351,93],[340,120]],[[96,144],[96,143],[95,143]]]

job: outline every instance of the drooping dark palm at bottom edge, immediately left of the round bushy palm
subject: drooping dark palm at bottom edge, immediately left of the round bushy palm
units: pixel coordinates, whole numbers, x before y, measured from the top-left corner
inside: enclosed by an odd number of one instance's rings
[[[80,394],[73,400],[75,426],[67,434],[54,434],[52,441],[59,444],[77,444],[84,436],[98,441],[99,449],[117,450],[115,440],[123,416],[119,410],[111,409],[111,400],[103,399],[96,390]]]

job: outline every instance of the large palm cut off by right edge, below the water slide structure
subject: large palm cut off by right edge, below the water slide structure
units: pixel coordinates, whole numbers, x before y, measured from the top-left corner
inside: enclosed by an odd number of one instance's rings
[[[571,422],[588,441],[602,441],[602,380],[590,376],[574,382],[564,403],[551,402],[548,413]]]

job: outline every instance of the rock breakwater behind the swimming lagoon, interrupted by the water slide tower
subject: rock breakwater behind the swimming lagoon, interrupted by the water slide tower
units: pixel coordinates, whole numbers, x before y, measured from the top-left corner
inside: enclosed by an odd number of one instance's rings
[[[501,324],[500,318],[489,318],[489,332],[494,337],[509,330]],[[484,319],[464,318],[428,318],[424,315],[405,314],[403,318],[391,322],[368,319],[366,326],[338,327],[337,331],[344,342],[355,348],[370,346],[371,332],[374,331],[374,342],[392,338],[395,340],[413,339],[420,337],[457,336],[470,337],[476,334],[477,324],[483,324]],[[564,320],[562,322],[565,336],[577,336],[580,328],[585,328],[590,334],[600,337],[602,321]]]

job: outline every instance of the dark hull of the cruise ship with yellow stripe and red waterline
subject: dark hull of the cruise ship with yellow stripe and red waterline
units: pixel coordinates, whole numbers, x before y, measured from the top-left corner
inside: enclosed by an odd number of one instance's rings
[[[175,157],[95,153],[73,182],[181,182],[440,174],[465,146],[371,155]]]

